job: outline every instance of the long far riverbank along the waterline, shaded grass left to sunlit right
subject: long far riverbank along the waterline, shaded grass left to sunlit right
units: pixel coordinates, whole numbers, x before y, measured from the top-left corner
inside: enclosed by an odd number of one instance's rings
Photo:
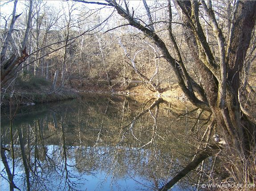
[[[10,105],[35,105],[38,103],[49,103],[54,101],[68,100],[80,97],[83,93],[140,96],[140,97],[163,97],[166,101],[187,102],[187,98],[178,85],[169,87],[163,94],[150,90],[149,85],[132,81],[128,87],[122,86],[122,82],[108,85],[107,82],[90,81],[83,82],[83,86],[73,83],[73,87],[56,87],[52,89],[52,82],[45,78],[35,77],[33,74],[24,73],[16,78],[12,87],[1,89],[1,107]]]

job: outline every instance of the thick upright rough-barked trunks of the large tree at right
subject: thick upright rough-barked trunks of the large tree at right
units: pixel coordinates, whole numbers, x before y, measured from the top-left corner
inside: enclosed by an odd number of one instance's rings
[[[249,177],[245,177],[251,167],[249,164],[249,156],[255,148],[255,124],[248,120],[246,115],[241,112],[240,101],[238,99],[239,87],[240,87],[240,74],[243,70],[244,57],[248,49],[252,29],[256,19],[256,2],[239,1],[238,9],[236,12],[235,31],[231,36],[232,43],[230,43],[230,54],[226,57],[227,65],[227,82],[225,84],[226,94],[219,95],[220,81],[218,77],[213,74],[213,71],[209,69],[203,62],[203,54],[212,55],[210,52],[202,52],[199,50],[202,43],[198,40],[198,34],[195,32],[195,28],[192,27],[193,23],[197,23],[198,18],[198,4],[197,2],[183,1],[177,2],[182,10],[183,23],[185,24],[183,30],[185,32],[186,41],[190,48],[191,55],[199,68],[202,81],[204,84],[205,93],[207,95],[208,103],[211,107],[216,121],[219,126],[219,130],[224,133],[226,139],[229,142],[229,148],[238,160],[232,161],[234,165],[233,177],[237,182],[245,183],[244,181],[252,181],[253,172]],[[186,15],[186,11],[190,17]],[[190,18],[194,18],[191,23]],[[197,25],[196,28],[199,31],[202,38],[206,39],[203,35],[202,28]],[[220,47],[219,47],[220,49]],[[220,67],[224,67],[220,65]],[[220,71],[220,70],[219,70]],[[224,97],[224,104],[221,103],[221,98]]]

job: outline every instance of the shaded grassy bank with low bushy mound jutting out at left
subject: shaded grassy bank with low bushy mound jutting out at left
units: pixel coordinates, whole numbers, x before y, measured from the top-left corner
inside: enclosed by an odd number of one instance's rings
[[[23,74],[16,78],[12,86],[1,88],[1,107],[8,105],[35,105],[79,97],[77,92],[57,87],[44,78]]]

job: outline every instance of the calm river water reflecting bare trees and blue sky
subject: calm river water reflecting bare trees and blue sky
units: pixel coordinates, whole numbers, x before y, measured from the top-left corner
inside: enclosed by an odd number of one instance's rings
[[[87,95],[20,107],[11,126],[2,111],[1,147],[13,145],[14,156],[12,149],[1,153],[1,190],[9,190],[6,164],[20,190],[157,190],[191,161],[194,149],[185,138],[192,120],[178,117],[171,103],[131,123],[153,102]],[[195,182],[191,172],[172,190],[196,190]]]

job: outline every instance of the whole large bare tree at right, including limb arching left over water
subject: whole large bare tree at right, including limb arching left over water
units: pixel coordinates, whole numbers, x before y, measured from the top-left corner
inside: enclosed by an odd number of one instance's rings
[[[211,124],[216,123],[228,142],[228,148],[225,148],[226,159],[230,157],[232,162],[227,169],[232,177],[239,183],[252,182],[256,176],[255,158],[253,158],[256,148],[256,126],[249,120],[244,107],[241,107],[240,85],[245,66],[244,58],[249,54],[248,47],[251,39],[254,38],[252,32],[256,20],[256,1],[234,2],[230,17],[222,18],[229,23],[228,31],[225,31],[228,33],[226,36],[218,22],[221,14],[217,12],[216,15],[211,1],[174,1],[174,3],[167,1],[165,8],[168,11],[168,19],[155,23],[145,0],[143,3],[148,22],[136,18],[134,10],[129,9],[126,1],[119,3],[115,0],[106,0],[106,3],[75,1],[114,7],[118,14],[127,20],[128,25],[142,31],[152,40],[162,51],[161,57],[171,65],[179,86],[191,103],[212,113]],[[195,82],[185,67],[186,60],[173,34],[173,7],[179,12],[185,43],[200,73],[202,80],[200,84]],[[231,8],[230,4],[229,8]],[[208,43],[209,34],[203,25],[201,12],[206,15],[203,19],[213,31],[217,51],[213,51]],[[175,56],[172,56],[167,47],[170,41],[163,40],[154,29],[154,24],[159,22],[167,23],[166,30],[175,49]]]

